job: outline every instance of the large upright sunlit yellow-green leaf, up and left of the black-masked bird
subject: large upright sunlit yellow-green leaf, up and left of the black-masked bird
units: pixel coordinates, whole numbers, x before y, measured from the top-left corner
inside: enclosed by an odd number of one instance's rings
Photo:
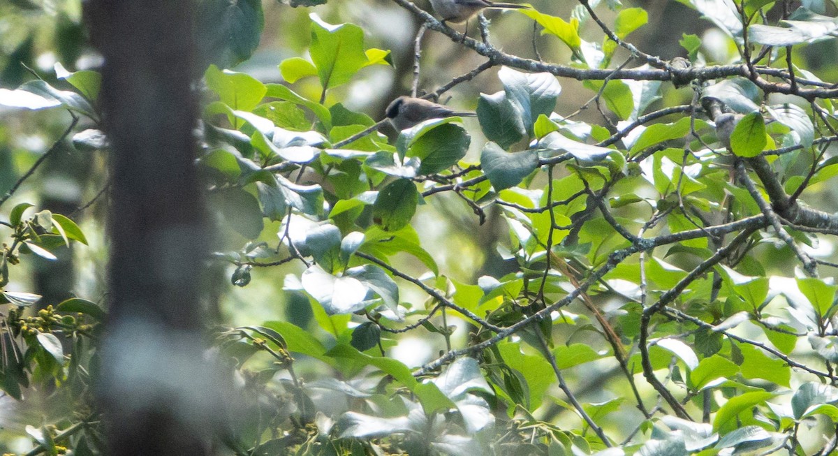
[[[320,85],[331,89],[345,84],[369,61],[364,52],[364,31],[352,23],[332,25],[316,13],[311,18],[309,53],[317,67]]]

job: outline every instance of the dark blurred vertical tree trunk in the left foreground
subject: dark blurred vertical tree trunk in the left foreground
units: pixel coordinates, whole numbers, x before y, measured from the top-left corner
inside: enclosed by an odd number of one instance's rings
[[[189,396],[202,387],[199,274],[206,257],[189,80],[194,5],[91,0],[86,8],[105,58],[101,106],[112,147],[110,312],[100,380],[107,454],[209,454],[209,433],[199,429],[206,409]]]

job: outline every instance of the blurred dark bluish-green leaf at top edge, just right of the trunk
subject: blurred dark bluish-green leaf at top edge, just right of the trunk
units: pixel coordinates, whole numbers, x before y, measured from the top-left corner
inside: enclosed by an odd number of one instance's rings
[[[210,63],[232,67],[250,59],[265,28],[260,0],[200,0],[195,11],[201,67]]]

